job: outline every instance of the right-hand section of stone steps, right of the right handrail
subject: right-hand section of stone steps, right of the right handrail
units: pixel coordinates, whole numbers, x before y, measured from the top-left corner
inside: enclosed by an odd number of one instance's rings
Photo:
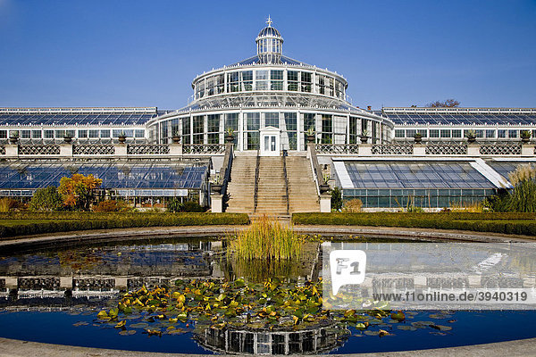
[[[287,156],[289,212],[320,212],[311,163],[303,156]]]

